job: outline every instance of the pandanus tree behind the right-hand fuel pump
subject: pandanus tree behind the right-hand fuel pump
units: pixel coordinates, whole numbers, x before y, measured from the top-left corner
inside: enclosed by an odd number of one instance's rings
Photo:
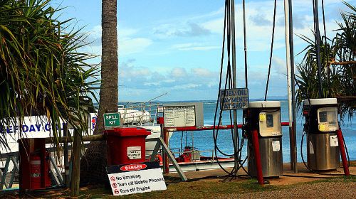
[[[344,4],[350,11],[341,13],[342,22],[337,23],[340,28],[335,30],[335,37],[320,38],[322,97],[336,97],[342,117],[356,111],[356,7]],[[299,74],[295,75],[299,106],[303,99],[318,98],[319,89],[315,42],[305,36],[300,38],[308,46],[302,51],[305,55],[297,66]]]

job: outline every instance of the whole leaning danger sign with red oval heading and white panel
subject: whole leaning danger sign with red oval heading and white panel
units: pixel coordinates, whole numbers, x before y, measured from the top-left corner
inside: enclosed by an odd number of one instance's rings
[[[166,190],[158,162],[131,163],[106,168],[114,195]]]

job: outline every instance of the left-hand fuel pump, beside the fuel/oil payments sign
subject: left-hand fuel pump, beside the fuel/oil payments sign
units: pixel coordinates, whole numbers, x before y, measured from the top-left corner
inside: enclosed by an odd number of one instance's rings
[[[257,175],[251,134],[258,131],[263,177],[282,176],[281,102],[250,102],[248,109],[244,109],[244,119],[248,138],[248,175]]]

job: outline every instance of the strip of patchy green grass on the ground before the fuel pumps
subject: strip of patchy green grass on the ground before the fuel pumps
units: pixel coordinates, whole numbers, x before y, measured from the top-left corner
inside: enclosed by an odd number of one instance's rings
[[[222,181],[222,178],[208,179],[204,181],[177,182],[175,179],[167,178],[167,190],[152,191],[150,193],[139,193],[134,195],[122,195],[119,198],[225,198],[226,195],[234,194],[234,197],[251,192],[288,190],[299,185],[314,183],[355,183],[356,176],[340,176],[335,178],[321,179],[292,185],[258,185],[255,179],[241,179],[234,181]],[[46,195],[44,195],[46,194]],[[69,198],[69,190],[50,191],[37,195],[40,198]],[[11,197],[7,197],[11,198]],[[80,189],[78,198],[117,198],[112,195],[108,188],[85,187]]]

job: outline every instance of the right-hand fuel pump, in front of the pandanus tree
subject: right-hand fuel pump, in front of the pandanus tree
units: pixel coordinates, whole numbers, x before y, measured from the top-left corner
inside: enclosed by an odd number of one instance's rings
[[[305,99],[303,116],[308,168],[316,171],[340,168],[340,149],[336,134],[339,129],[337,99]]]

